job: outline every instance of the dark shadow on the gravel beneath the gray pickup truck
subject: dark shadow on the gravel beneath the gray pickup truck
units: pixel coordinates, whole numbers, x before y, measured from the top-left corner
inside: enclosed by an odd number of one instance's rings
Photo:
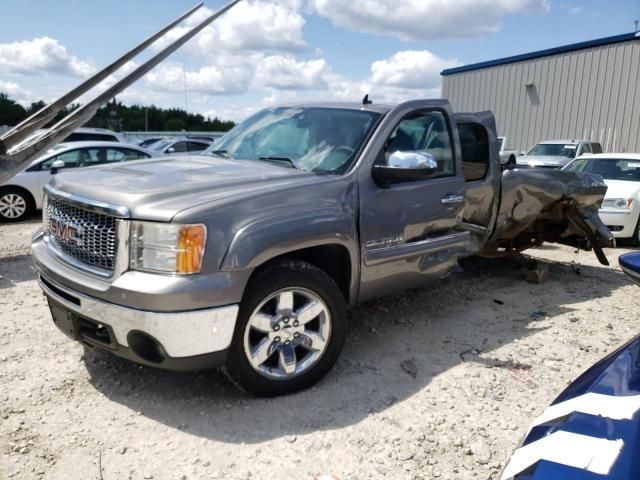
[[[84,362],[106,397],[192,435],[257,443],[343,428],[414,395],[461,362],[535,368],[495,350],[535,333],[542,328],[537,322],[571,311],[572,304],[628,284],[612,269],[581,268],[577,275],[570,265],[552,263],[551,278],[531,285],[513,260],[470,259],[464,273],[363,304],[351,312],[334,370],[317,387],[289,397],[255,399],[219,372],[164,372],[99,351],[87,351]]]

